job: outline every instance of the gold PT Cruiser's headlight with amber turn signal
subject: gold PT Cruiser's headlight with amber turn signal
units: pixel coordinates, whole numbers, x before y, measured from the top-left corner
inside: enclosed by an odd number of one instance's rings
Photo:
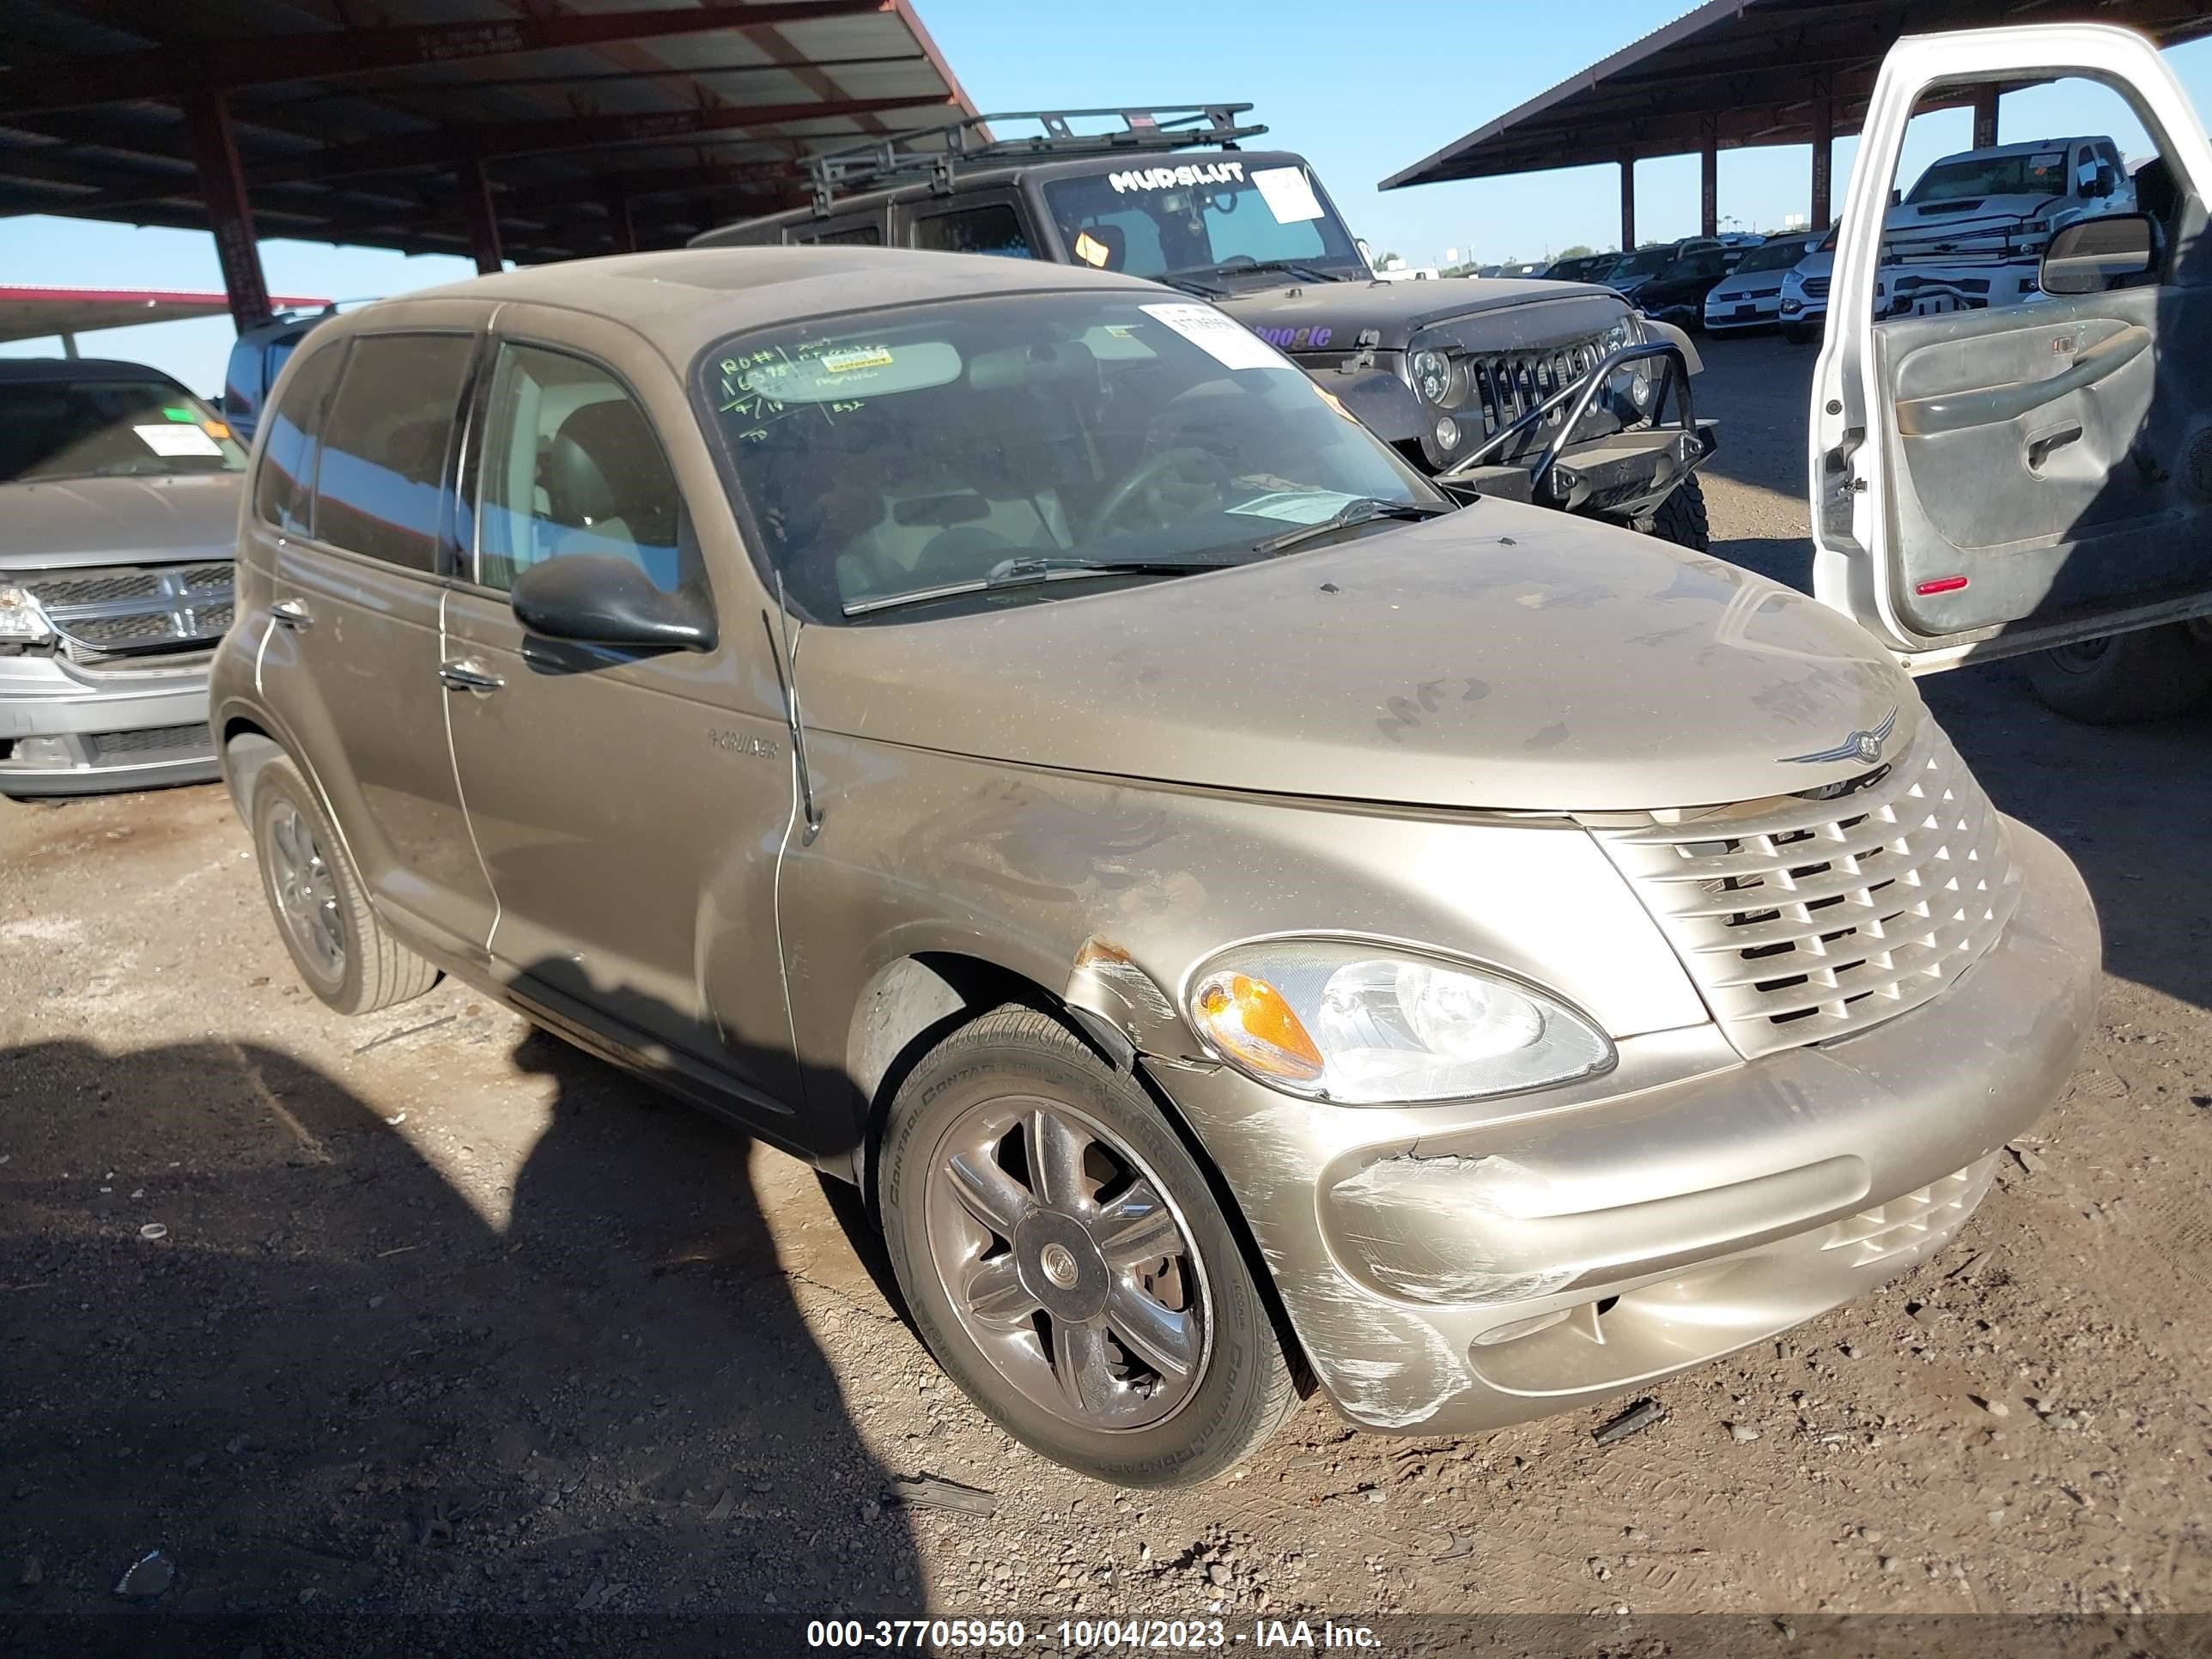
[[[1223,1062],[1343,1106],[1504,1095],[1613,1064],[1613,1044],[1542,991],[1387,945],[1243,945],[1201,967],[1188,995]]]

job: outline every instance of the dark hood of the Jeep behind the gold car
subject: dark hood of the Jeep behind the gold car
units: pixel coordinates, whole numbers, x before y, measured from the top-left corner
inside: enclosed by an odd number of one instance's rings
[[[1234,272],[1232,272],[1234,276]],[[1546,345],[1579,338],[1608,327],[1626,305],[1608,288],[1590,283],[1548,283],[1506,276],[1440,276],[1427,283],[1296,283],[1230,292],[1212,301],[1254,334],[1294,349],[1349,352],[1365,330],[1378,334],[1376,345],[1396,352],[1418,330],[1451,323],[1484,312],[1509,312],[1491,319],[1506,325],[1513,338],[1486,341],[1491,349]],[[1327,330],[1327,338],[1314,338]],[[1298,334],[1305,334],[1298,341]]]

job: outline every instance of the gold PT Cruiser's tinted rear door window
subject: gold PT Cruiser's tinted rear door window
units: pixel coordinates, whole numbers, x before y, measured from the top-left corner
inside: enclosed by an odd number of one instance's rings
[[[323,418],[316,540],[409,571],[440,568],[453,411],[473,352],[467,334],[354,338]]]

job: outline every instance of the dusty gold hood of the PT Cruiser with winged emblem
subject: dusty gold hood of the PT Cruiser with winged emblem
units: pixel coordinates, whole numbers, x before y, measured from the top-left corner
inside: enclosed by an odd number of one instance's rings
[[[1920,701],[1856,624],[1515,502],[1232,571],[807,628],[807,726],[1068,772],[1515,812],[1750,801],[1867,770]]]

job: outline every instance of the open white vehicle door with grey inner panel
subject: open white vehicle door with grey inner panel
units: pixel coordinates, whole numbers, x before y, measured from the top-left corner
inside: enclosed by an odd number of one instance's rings
[[[1916,106],[2062,77],[2121,93],[2172,170],[2154,270],[1876,321],[1882,217]],[[2212,613],[2208,199],[2203,124],[2141,35],[1984,29],[1889,53],[1838,230],[1809,487],[1816,595],[1913,672]]]

